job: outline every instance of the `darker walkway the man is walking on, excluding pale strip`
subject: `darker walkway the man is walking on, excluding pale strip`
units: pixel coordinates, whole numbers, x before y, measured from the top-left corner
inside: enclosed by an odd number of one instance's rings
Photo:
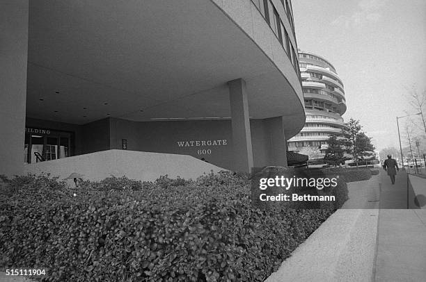
[[[426,188],[426,179],[420,181],[416,177],[411,183],[408,179],[412,176],[399,172],[392,185],[386,172],[380,174],[376,282],[425,281],[426,210],[418,208],[413,199],[416,197],[414,191]]]

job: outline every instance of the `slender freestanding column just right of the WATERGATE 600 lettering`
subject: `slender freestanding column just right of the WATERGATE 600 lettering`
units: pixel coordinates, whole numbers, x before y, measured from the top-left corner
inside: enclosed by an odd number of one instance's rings
[[[246,82],[242,78],[228,82],[232,117],[233,169],[237,172],[251,172],[253,149],[251,147],[250,120]]]

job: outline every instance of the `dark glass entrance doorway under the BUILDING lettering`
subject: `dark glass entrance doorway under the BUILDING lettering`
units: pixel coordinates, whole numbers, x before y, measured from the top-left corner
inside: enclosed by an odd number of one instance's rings
[[[72,133],[25,128],[24,163],[39,163],[71,156]]]

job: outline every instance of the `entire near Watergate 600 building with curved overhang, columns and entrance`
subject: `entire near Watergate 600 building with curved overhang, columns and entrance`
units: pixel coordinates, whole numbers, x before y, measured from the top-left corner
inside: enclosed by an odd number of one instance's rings
[[[248,172],[305,122],[290,0],[1,3],[0,174],[114,149]]]

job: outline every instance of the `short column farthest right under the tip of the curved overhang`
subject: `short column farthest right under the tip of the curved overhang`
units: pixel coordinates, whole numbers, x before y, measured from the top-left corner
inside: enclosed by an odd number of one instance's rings
[[[287,167],[287,149],[285,146],[283,117],[263,119],[269,135],[269,165]]]

